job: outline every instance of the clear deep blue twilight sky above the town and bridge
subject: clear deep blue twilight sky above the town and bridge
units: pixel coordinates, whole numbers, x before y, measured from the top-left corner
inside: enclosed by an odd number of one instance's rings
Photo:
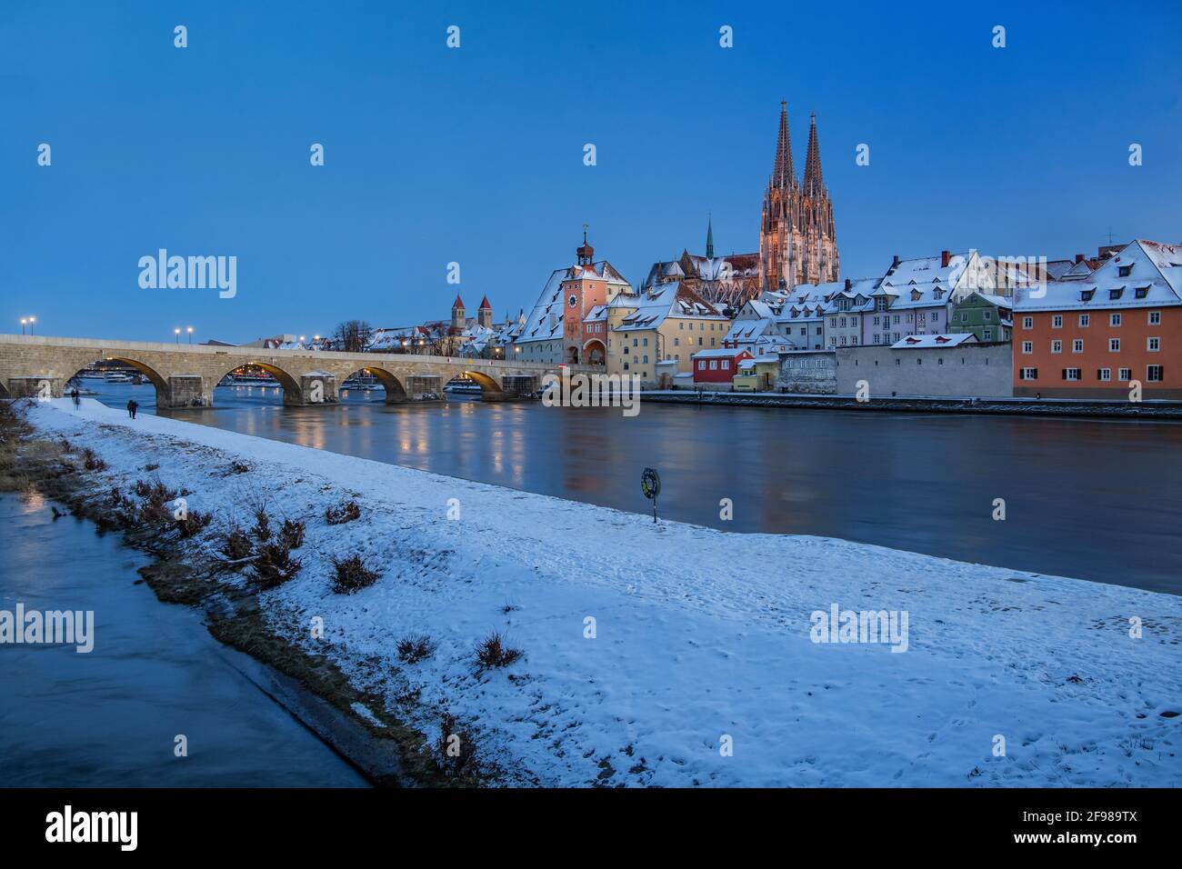
[[[1182,241],[1182,5],[862,7],[4,0],[0,331],[241,342],[457,288],[500,320],[584,221],[634,284],[709,213],[716,252],[755,251],[781,97],[798,173],[817,112],[843,277]],[[142,290],[160,247],[236,255],[238,296]]]

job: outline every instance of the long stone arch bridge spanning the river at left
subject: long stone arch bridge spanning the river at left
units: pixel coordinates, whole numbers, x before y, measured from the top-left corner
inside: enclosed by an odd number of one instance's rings
[[[285,404],[331,404],[350,375],[365,371],[385,387],[388,403],[441,396],[443,384],[467,375],[486,401],[531,396],[547,374],[591,372],[580,365],[469,359],[414,354],[343,354],[265,350],[209,344],[168,344],[98,338],[0,335],[0,398],[61,397],[66,381],[93,362],[135,368],[156,387],[160,408],[209,408],[214,387],[242,365],[269,371],[284,389]]]

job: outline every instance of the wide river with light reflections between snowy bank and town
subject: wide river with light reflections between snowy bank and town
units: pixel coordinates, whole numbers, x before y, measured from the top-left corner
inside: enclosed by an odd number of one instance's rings
[[[150,385],[87,381],[117,407]],[[1182,594],[1182,424],[956,414],[540,402],[284,408],[219,388],[177,419],[736,532],[818,534]],[[720,518],[730,499],[733,519]],[[995,500],[1005,520],[995,520]],[[641,519],[638,518],[637,521]]]

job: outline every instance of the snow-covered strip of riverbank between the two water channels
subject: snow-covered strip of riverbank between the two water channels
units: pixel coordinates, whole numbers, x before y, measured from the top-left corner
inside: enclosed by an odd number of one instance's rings
[[[190,508],[214,512],[212,534],[249,524],[256,493],[304,519],[304,569],[261,595],[268,622],[357,680],[384,680],[391,708],[417,689],[416,724],[434,739],[437,713],[450,712],[482,758],[515,771],[508,784],[1182,782],[1182,718],[1170,715],[1182,712],[1180,597],[826,538],[654,526],[175,420],[132,422],[93,401],[30,419],[95,449],[112,480],[158,463],[154,474],[193,492]],[[251,471],[228,474],[232,460]],[[362,518],[325,524],[325,507],[349,497]],[[355,551],[382,577],[333,594],[327,557]],[[832,604],[905,610],[907,651],[812,642],[810,615]],[[310,637],[313,616],[323,640]],[[525,656],[480,673],[473,647],[492,630]],[[435,640],[434,656],[401,663],[395,643],[410,634]]]

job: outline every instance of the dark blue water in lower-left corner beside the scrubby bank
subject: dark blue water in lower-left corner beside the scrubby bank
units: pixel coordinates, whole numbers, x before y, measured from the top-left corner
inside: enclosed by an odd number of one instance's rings
[[[0,495],[0,609],[92,610],[93,649],[0,644],[0,786],[365,786],[259,690],[145,556],[39,498]],[[175,755],[176,737],[188,757]]]

